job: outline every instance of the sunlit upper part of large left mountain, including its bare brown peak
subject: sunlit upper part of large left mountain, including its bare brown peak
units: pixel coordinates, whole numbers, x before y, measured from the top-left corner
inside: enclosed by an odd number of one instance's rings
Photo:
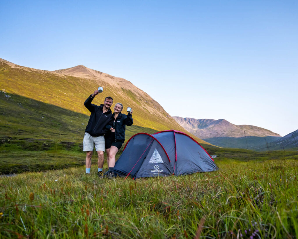
[[[0,84],[0,91],[8,95],[27,97],[87,116],[90,112],[85,108],[84,101],[101,86],[103,93],[96,96],[92,103],[99,105],[106,96],[112,96],[114,104],[116,102],[123,104],[123,113],[127,107],[133,108],[134,126],[148,129],[150,132],[168,129],[185,131],[158,102],[131,82],[83,65],[57,71],[44,71],[19,66],[0,58]],[[4,122],[9,123],[9,120],[3,118],[0,120],[0,126]],[[3,133],[6,135],[5,131]],[[197,137],[195,139],[200,143],[209,144]]]

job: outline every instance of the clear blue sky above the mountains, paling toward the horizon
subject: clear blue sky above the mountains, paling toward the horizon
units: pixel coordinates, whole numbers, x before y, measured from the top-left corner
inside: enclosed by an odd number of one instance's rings
[[[172,116],[298,129],[298,1],[7,1],[0,57],[123,77]]]

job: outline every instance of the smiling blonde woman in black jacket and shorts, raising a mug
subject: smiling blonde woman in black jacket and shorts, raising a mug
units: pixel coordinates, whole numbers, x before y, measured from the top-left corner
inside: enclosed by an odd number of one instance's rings
[[[131,126],[134,122],[132,119],[132,110],[125,115],[121,113],[122,109],[123,105],[121,103],[115,105],[113,125],[107,125],[110,131],[105,134],[105,150],[107,152],[109,167],[108,178],[114,177],[116,154],[125,140],[125,125]]]

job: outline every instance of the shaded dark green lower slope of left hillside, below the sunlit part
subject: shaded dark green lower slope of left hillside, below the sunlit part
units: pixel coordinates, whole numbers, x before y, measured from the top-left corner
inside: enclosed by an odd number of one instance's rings
[[[85,114],[1,91],[0,173],[83,165],[82,142],[88,120]],[[156,131],[132,125],[127,127],[126,138],[138,132]]]

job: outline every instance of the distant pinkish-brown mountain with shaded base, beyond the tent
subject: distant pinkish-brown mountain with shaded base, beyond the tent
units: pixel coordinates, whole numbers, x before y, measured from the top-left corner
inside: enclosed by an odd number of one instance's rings
[[[281,138],[270,130],[253,125],[234,125],[225,119],[173,118],[190,133],[221,147],[257,149],[266,142]]]

